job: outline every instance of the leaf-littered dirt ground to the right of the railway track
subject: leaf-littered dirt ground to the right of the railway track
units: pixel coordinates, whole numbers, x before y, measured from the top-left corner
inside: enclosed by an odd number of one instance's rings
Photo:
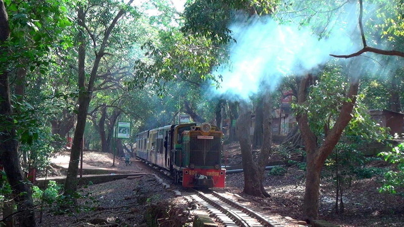
[[[230,163],[237,163],[240,156],[238,143],[225,146]],[[291,155],[289,158],[296,158]],[[281,160],[278,154],[270,156],[271,161]],[[375,161],[372,166],[386,167],[384,161]],[[265,188],[271,198],[254,198],[243,194],[244,175],[232,174],[226,177],[226,186],[230,192],[250,199],[258,207],[270,207],[282,216],[301,219],[303,197],[305,193],[305,171],[296,165],[285,167],[282,176],[266,175]],[[269,173],[269,171],[267,171]],[[324,175],[324,171],[323,171]],[[343,195],[344,212],[335,213],[335,186],[329,179],[322,179],[320,185],[319,219],[327,220],[339,226],[404,226],[404,197],[401,195],[380,194],[382,177],[354,180]]]

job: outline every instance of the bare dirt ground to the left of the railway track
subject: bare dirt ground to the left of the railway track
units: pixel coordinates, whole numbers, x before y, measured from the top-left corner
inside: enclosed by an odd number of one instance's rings
[[[68,152],[61,152],[54,160],[66,161],[67,155]],[[166,221],[170,226],[181,226],[193,219],[190,213],[182,213],[190,206],[189,201],[176,198],[173,191],[165,189],[157,178],[167,184],[170,184],[170,180],[153,174],[152,172],[158,172],[151,170],[145,163],[132,158],[131,164],[126,165],[123,158],[115,157],[115,166],[112,166],[112,154],[94,151],[84,151],[83,162],[92,166],[133,170],[149,175],[81,187],[79,193],[82,197],[77,199],[76,205],[70,206],[73,210],[63,213],[63,209],[69,208],[70,204],[60,208],[61,204],[57,203],[45,205],[42,212],[38,210],[38,226],[149,226],[150,221],[158,221],[159,217],[159,221]],[[53,171],[54,175],[60,173],[57,169]],[[161,216],[166,212],[180,218],[166,220]],[[150,217],[150,213],[153,217]]]

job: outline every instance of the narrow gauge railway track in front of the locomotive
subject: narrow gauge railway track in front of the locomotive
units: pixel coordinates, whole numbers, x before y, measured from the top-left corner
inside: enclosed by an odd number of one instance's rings
[[[283,227],[279,222],[272,220],[269,216],[257,213],[238,202],[234,202],[217,192],[209,191],[207,193],[195,190],[193,199],[208,208],[210,212],[216,214],[216,217],[223,222],[225,226],[243,226],[243,227]]]

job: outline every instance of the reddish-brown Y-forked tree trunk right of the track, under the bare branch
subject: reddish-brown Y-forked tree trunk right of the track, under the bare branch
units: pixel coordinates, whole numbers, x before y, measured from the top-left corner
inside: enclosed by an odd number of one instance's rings
[[[297,95],[297,104],[303,105],[307,101],[308,89],[313,83],[313,75],[309,74],[301,78]],[[319,191],[320,191],[320,176],[321,168],[324,161],[331,154],[337,144],[341,134],[352,119],[352,110],[354,109],[357,99],[359,87],[359,76],[350,75],[349,89],[339,108],[338,117],[332,128],[325,125],[325,137],[323,142],[317,144],[317,137],[309,125],[308,110],[301,108],[297,110],[296,120],[303,138],[305,150],[307,153],[307,174],[306,174],[306,189],[303,201],[303,215],[309,220],[316,219],[318,216],[319,206]]]

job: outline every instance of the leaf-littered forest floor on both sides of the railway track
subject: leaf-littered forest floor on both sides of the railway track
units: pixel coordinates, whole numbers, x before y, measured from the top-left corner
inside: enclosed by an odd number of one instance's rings
[[[225,145],[225,153],[230,159],[229,162],[240,162],[241,155],[238,143]],[[84,162],[93,166],[111,167],[112,158],[112,154],[109,153],[84,152]],[[271,157],[271,160],[280,159],[282,157],[279,154]],[[387,164],[383,161],[374,161],[371,165],[385,168]],[[134,161],[132,165],[126,166],[120,158],[116,159],[115,168],[133,169],[135,171],[146,171],[147,169],[144,163],[140,161]],[[305,172],[297,165],[284,167],[284,169],[286,172],[282,175],[270,175],[270,171],[267,171],[264,185],[271,194],[271,198],[256,198],[244,194],[242,192],[244,185],[243,173],[226,177],[227,191],[247,198],[257,207],[269,207],[271,212],[301,219]],[[335,186],[332,181],[322,179],[319,219],[324,219],[340,226],[404,226],[404,197],[380,194],[378,188],[382,185],[381,182],[382,178],[380,176],[374,176],[370,179],[354,179],[351,186],[346,188],[344,192],[344,212],[336,214]],[[89,185],[82,189],[82,194],[86,193],[92,194],[86,199],[81,199],[80,202],[83,205],[86,203],[88,206],[95,206],[95,210],[81,214],[58,215],[57,219],[52,213],[45,212],[39,226],[90,226],[86,225],[86,223],[92,223],[89,221],[92,221],[95,217],[100,217],[100,215],[104,220],[111,222],[117,222],[118,220],[118,222],[121,221],[121,223],[136,226],[134,223],[141,223],[146,216],[145,210],[150,207],[147,206],[150,202],[160,204],[156,205],[157,207],[174,207],[170,212],[172,215],[179,215],[181,218],[177,218],[177,220],[182,221],[182,224],[192,219],[189,213],[187,215],[181,213],[191,206],[189,201],[175,198],[173,192],[166,191],[161,186],[158,186],[150,176],[134,180],[123,179]],[[92,199],[89,199],[90,197]],[[147,202],[139,204],[139,201],[142,200]],[[163,203],[164,205],[162,205]],[[135,208],[131,204],[136,204]],[[117,218],[118,216],[119,218]],[[63,222],[61,222],[62,219]],[[167,221],[172,222],[173,220]],[[171,223],[171,226],[176,225]]]

